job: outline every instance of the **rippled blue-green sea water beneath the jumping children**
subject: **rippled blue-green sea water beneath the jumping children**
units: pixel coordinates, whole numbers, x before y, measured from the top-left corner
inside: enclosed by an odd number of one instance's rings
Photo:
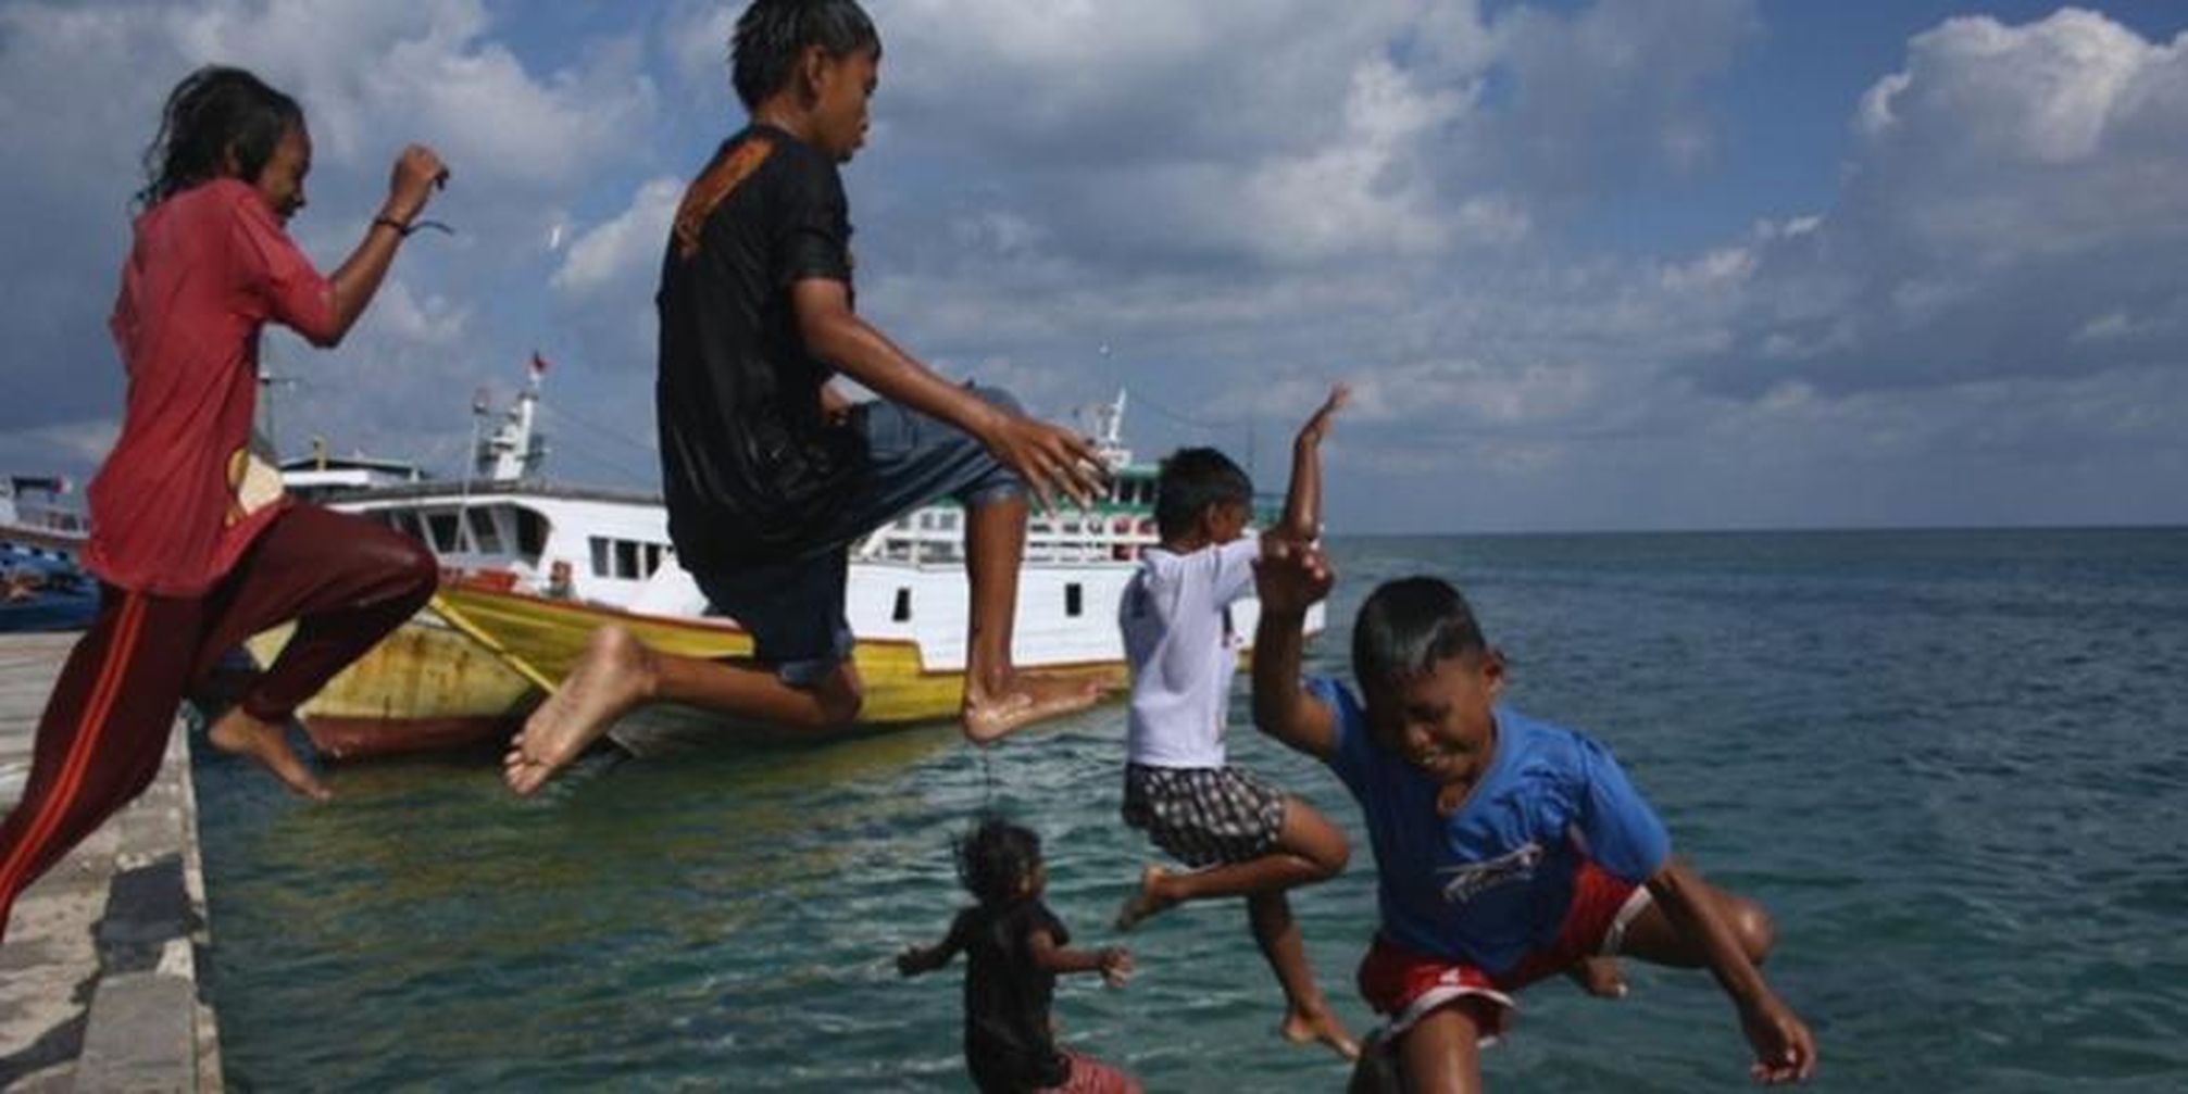
[[[1346,674],[1378,580],[1462,584],[1508,700],[1608,742],[1715,884],[1777,917],[1772,987],[1818,1090],[2188,1090],[2188,529],[1361,538],[1308,672]],[[1076,945],[1063,1044],[1149,1090],[1339,1090],[1276,1037],[1238,901],[1109,921],[1155,858],[1118,818],[1122,707],[993,750],[950,726],[818,748],[586,759],[510,796],[490,755],[354,764],[306,805],[199,750],[208,989],[238,1090],[967,1090],[961,965],[904,980],[965,901],[982,810],[1044,838]],[[1232,757],[1352,836],[1295,893],[1354,1028],[1374,856],[1339,783]],[[1497,1090],[1729,1090],[1702,971],[1619,1002],[1529,989]]]

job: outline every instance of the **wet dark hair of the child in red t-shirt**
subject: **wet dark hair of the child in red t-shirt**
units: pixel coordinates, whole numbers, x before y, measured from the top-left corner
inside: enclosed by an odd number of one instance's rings
[[[144,149],[138,206],[153,208],[221,177],[228,153],[236,158],[236,177],[258,182],[293,125],[304,125],[295,98],[241,68],[206,66],[182,77],[160,112],[160,133]]]

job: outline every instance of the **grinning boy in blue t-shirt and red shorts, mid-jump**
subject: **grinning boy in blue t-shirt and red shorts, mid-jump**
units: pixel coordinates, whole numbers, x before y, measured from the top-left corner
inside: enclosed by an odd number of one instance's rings
[[[1381,908],[1359,987],[1389,1017],[1378,1063],[1411,1092],[1479,1090],[1479,1046],[1503,1033],[1514,991],[1623,952],[1707,967],[1739,1009],[1753,1076],[1807,1079],[1814,1035],[1757,971],[1770,919],[1672,858],[1604,746],[1497,702],[1503,656],[1457,589],[1407,578],[1361,604],[1365,702],[1335,680],[1302,685],[1300,619],[1332,582],[1315,549],[1262,551],[1254,722],[1359,799]]]

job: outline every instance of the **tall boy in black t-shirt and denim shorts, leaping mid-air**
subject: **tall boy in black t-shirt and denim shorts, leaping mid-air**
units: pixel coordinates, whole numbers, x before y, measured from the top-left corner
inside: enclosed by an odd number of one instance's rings
[[[1094,446],[958,387],[851,311],[851,221],[836,164],[866,140],[882,39],[853,0],[755,0],[733,77],[750,125],[691,182],[661,263],[663,494],[678,562],[753,635],[759,667],[648,650],[600,628],[512,742],[529,794],[617,715],[676,700],[805,729],[858,718],[847,547],[936,497],[967,510],[965,735],[991,742],[1076,711],[1092,683],[1011,665],[1026,490],[1085,503]],[[849,405],[840,370],[882,398]]]

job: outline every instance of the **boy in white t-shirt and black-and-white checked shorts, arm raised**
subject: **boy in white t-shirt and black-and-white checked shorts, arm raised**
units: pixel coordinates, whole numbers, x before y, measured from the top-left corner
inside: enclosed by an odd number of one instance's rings
[[[1322,525],[1322,435],[1346,387],[1300,427],[1282,523],[1269,529],[1313,543]],[[1230,606],[1254,593],[1258,536],[1247,534],[1254,484],[1214,449],[1182,449],[1162,462],[1155,525],[1162,545],[1140,558],[1118,604],[1131,663],[1131,731],[1125,823],[1195,866],[1147,866],[1116,917],[1120,930],[1188,899],[1245,897],[1254,941],[1284,987],[1280,1033],[1359,1055],[1330,1013],[1300,945],[1284,891],[1346,869],[1346,836],[1304,801],[1225,761],[1223,724],[1238,645]]]

